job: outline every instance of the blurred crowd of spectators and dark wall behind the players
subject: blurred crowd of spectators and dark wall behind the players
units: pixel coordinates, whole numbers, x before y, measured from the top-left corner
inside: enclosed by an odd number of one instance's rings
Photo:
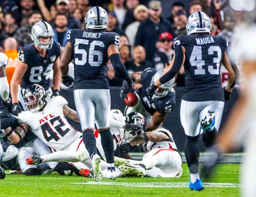
[[[186,19],[194,11],[206,12],[212,21],[211,34],[222,35],[232,44],[234,21],[232,16],[225,12],[227,7],[225,0],[162,0],[160,3],[148,0],[57,0],[56,2],[53,0],[2,0],[0,2],[0,51],[9,57],[6,67],[8,81],[11,80],[18,60],[18,50],[32,43],[28,33],[36,20],[48,21],[55,29],[56,41],[64,47],[65,35],[69,29],[85,27],[84,16],[91,6],[96,5],[102,6],[108,11],[110,19],[108,31],[114,31],[121,35],[119,48],[121,60],[129,73],[142,71],[147,67],[156,69],[166,67],[172,59],[172,41],[176,36],[186,34]],[[152,21],[152,17],[143,18],[138,14],[142,11],[149,15],[154,10],[161,14],[161,19],[158,15],[154,16],[155,21],[160,19],[158,22]],[[58,13],[62,15],[55,18]],[[147,20],[152,24],[147,25]],[[145,28],[140,29],[140,24]],[[138,32],[134,30],[138,30]],[[152,32],[155,36],[148,40],[147,37]],[[139,46],[135,47],[136,45]],[[73,64],[70,63],[70,75],[72,75],[72,66]],[[222,67],[220,74],[223,86],[225,86],[228,73]],[[124,111],[125,105],[119,96],[122,80],[115,75],[110,62],[108,63],[108,78],[111,85],[111,109],[118,108]],[[176,105],[167,116],[164,126],[172,132],[178,149],[183,151],[184,131],[180,123],[179,108],[184,88],[184,70],[180,70],[176,82]],[[135,84],[135,87],[139,88],[140,85]],[[239,85],[234,89],[231,99],[225,103],[221,125],[232,118],[229,111],[238,92]],[[69,106],[75,109],[73,88],[61,86],[60,94],[67,99]],[[80,130],[80,124],[75,122],[71,122],[71,124]],[[200,151],[204,150],[202,143],[199,144],[199,147]],[[138,147],[134,151],[141,150],[142,148]]]

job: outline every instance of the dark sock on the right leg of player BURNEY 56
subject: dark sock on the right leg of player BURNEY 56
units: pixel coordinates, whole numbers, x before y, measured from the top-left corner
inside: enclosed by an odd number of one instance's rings
[[[110,129],[99,132],[108,167],[114,167],[114,144]]]

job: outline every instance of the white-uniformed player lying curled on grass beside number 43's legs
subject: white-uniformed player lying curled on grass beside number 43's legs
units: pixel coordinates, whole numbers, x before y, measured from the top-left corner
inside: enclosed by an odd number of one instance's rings
[[[116,158],[118,169],[125,174],[150,177],[180,177],[182,175],[182,156],[177,150],[170,131],[164,128],[156,129],[138,135],[127,144],[115,150],[116,156],[130,152],[138,144],[147,146],[147,152],[142,161]]]

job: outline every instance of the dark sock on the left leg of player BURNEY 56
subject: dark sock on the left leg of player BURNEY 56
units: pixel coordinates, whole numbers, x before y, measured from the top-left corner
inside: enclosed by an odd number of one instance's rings
[[[83,141],[90,158],[92,158],[94,154],[98,154],[96,148],[96,139],[92,130],[87,129],[83,132]]]

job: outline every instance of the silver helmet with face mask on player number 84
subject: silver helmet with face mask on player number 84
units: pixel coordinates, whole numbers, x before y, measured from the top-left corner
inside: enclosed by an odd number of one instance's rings
[[[38,47],[46,50],[49,50],[52,48],[54,32],[53,32],[52,26],[46,21],[36,22],[31,29],[31,34],[29,35]],[[41,42],[39,41],[39,36],[50,37],[50,41]]]

